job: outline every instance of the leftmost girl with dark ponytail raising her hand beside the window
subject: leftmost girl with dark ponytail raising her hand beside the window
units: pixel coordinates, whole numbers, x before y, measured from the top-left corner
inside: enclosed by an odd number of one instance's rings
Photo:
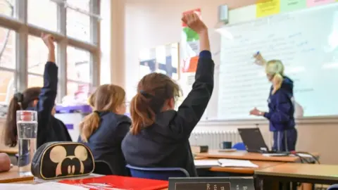
[[[23,93],[14,94],[8,107],[5,128],[5,144],[18,144],[18,129],[16,126],[17,110],[37,110],[37,148],[50,141],[68,141],[68,131],[61,132],[63,127],[51,120],[56,93],[58,88],[58,66],[55,63],[54,37],[50,34],[41,35],[49,50],[48,59],[44,66],[44,87],[25,89]],[[53,122],[53,123],[52,123]],[[52,127],[52,128],[51,128]],[[54,131],[58,131],[56,134]]]

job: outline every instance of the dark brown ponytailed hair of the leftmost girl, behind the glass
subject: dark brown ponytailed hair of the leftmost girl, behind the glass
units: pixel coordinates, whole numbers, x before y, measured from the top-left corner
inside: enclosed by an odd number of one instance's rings
[[[14,94],[8,106],[8,113],[6,118],[6,127],[4,131],[4,143],[6,146],[14,147],[18,144],[18,128],[16,126],[16,111],[25,110],[32,105],[33,101],[39,99],[41,87],[32,87],[26,89],[21,94],[20,92]]]

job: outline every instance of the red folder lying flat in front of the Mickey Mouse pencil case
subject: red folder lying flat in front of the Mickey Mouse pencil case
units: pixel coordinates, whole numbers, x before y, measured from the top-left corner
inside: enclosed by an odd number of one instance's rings
[[[91,190],[158,190],[168,188],[167,181],[116,175],[86,179],[65,179],[59,181],[59,183],[73,184]]]

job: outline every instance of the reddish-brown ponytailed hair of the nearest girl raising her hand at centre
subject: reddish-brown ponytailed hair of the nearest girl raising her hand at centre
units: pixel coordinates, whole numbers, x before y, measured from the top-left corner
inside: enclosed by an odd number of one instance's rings
[[[142,127],[152,125],[165,101],[179,95],[180,87],[167,75],[154,72],[144,76],[137,85],[137,94],[130,101],[132,134],[138,134]]]

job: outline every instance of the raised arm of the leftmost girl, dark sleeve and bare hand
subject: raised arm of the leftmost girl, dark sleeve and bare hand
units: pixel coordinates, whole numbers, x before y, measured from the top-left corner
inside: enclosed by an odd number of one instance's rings
[[[38,112],[38,138],[37,147],[46,142],[46,131],[51,118],[51,110],[54,107],[56,93],[58,88],[58,67],[55,64],[55,46],[54,38],[50,34],[42,34],[42,40],[46,44],[49,53],[48,60],[44,66],[44,87],[39,94],[37,103]]]

